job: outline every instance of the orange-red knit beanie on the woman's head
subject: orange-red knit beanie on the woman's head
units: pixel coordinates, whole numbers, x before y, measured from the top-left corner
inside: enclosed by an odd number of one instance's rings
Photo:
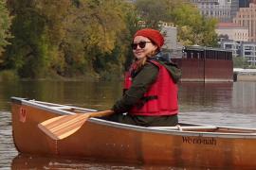
[[[135,34],[134,38],[137,36],[143,36],[150,39],[152,42],[155,42],[155,45],[157,45],[158,48],[161,48],[161,46],[164,43],[164,38],[162,34],[155,29],[151,29],[151,28],[140,29]]]

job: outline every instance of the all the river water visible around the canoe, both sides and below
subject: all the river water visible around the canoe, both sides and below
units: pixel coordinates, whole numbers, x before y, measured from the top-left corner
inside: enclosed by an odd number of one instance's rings
[[[107,110],[121,96],[121,85],[119,81],[0,82],[0,169],[190,169],[18,155],[11,136],[11,96]],[[179,108],[180,122],[256,127],[256,82],[180,83]]]

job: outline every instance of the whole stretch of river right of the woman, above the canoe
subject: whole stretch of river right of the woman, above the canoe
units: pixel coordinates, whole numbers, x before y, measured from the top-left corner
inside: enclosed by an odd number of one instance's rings
[[[231,127],[256,127],[256,82],[182,83],[182,121]]]

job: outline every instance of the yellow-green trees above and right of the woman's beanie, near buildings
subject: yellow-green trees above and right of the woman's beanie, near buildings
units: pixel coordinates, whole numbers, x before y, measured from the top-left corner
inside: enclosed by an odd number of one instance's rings
[[[146,26],[158,27],[160,21],[173,23],[177,27],[177,38],[184,45],[217,44],[216,20],[206,19],[199,10],[180,0],[137,0],[137,10]]]

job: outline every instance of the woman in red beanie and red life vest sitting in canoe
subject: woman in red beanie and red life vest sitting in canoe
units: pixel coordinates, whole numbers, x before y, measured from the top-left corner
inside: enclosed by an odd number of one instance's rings
[[[163,44],[159,31],[151,28],[137,31],[131,44],[135,59],[125,76],[124,93],[108,120],[143,127],[178,123],[176,83],[181,72],[162,55]]]

